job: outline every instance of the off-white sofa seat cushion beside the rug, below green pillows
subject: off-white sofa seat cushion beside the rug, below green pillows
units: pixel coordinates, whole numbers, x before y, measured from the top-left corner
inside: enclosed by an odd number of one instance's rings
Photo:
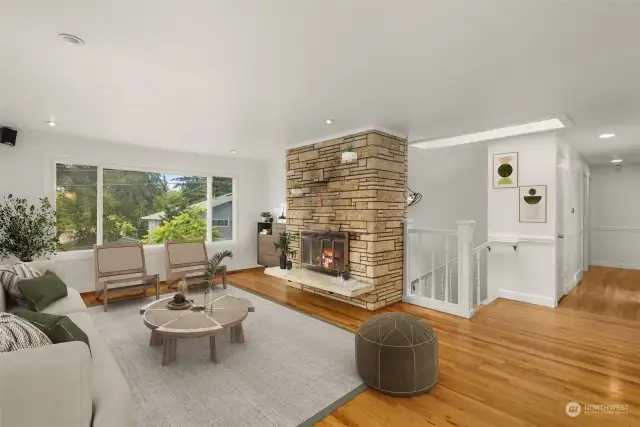
[[[68,316],[89,337],[91,342],[91,376],[93,395],[92,427],[128,427],[133,425],[131,392],[116,363],[109,345],[87,313]]]

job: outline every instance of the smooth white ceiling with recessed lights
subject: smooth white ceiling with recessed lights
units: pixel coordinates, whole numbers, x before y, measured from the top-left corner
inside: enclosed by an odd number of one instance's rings
[[[5,125],[263,157],[370,125],[417,140],[566,114],[592,163],[640,160],[634,1],[0,0],[0,11]]]

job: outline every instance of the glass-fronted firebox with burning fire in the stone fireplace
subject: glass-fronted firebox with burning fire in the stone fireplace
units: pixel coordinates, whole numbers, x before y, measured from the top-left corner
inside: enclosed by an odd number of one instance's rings
[[[349,234],[337,231],[302,231],[300,262],[303,267],[339,273],[349,263]]]

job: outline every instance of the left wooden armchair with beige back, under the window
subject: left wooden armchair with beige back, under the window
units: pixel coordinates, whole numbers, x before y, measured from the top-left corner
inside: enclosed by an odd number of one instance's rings
[[[102,293],[104,311],[108,310],[109,293],[146,290],[155,287],[156,299],[160,298],[160,278],[147,274],[144,249],[141,243],[110,243],[94,245],[96,292]],[[133,285],[120,286],[123,283]]]

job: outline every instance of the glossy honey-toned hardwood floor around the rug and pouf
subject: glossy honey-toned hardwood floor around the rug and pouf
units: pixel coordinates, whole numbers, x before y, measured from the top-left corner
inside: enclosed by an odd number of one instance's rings
[[[373,315],[286,286],[258,269],[232,274],[229,281],[349,329]],[[640,425],[639,322],[502,299],[471,320],[405,303],[383,311],[412,313],[436,331],[438,385],[410,398],[368,389],[318,426]],[[571,418],[565,412],[570,401],[629,409],[626,415]]]

